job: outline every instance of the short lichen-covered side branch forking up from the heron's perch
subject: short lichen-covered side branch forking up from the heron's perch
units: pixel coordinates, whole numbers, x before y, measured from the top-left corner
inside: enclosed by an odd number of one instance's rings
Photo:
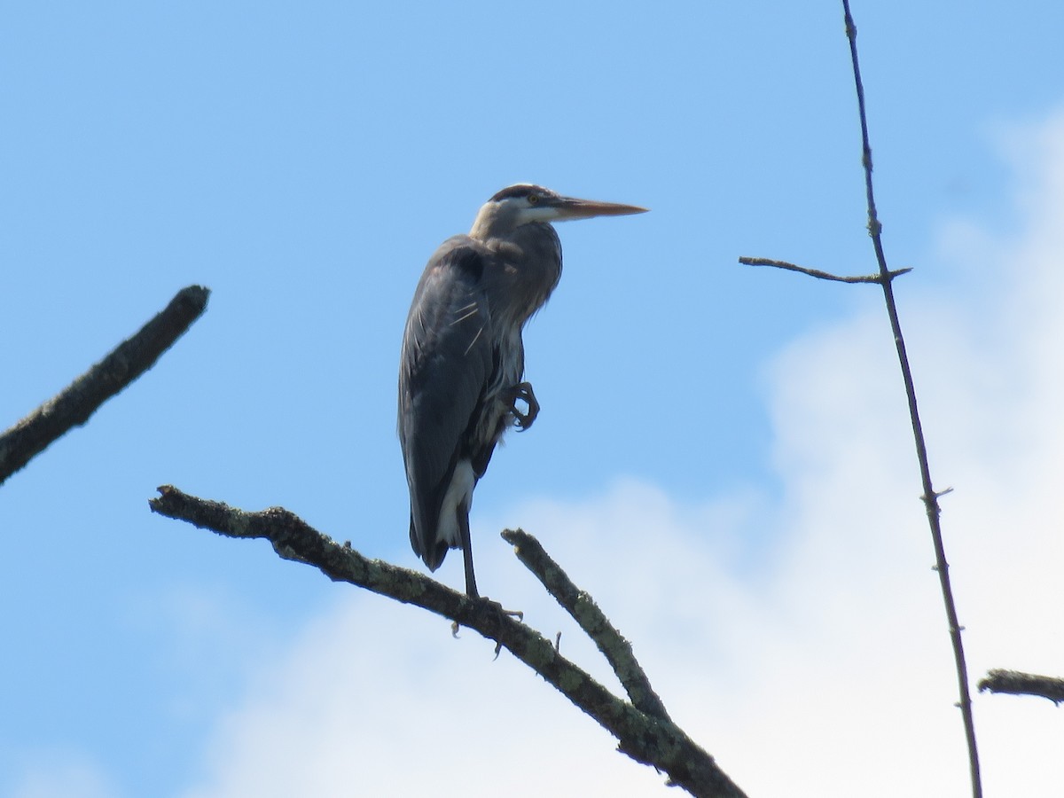
[[[517,559],[525,563],[587,636],[595,641],[628,693],[632,704],[648,715],[669,720],[665,704],[650,686],[650,679],[632,653],[632,644],[610,622],[595,600],[577,587],[562,567],[544,550],[528,532],[504,530],[502,539],[514,547]]]

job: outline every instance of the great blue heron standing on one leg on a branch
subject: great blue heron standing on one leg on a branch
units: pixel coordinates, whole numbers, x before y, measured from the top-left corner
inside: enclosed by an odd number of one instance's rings
[[[521,329],[562,276],[562,245],[550,222],[645,211],[512,185],[480,209],[469,235],[448,238],[425,267],[399,362],[410,542],[431,570],[449,548],[461,548],[470,598],[478,598],[473,487],[506,429],[527,430],[539,412],[522,381]]]

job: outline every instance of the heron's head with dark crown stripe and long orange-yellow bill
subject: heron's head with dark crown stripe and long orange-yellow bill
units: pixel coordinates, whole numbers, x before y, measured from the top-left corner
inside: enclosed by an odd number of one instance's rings
[[[484,203],[477,214],[471,234],[473,237],[487,237],[532,222],[550,223],[646,212],[647,209],[637,205],[563,197],[539,185],[518,183],[503,188]]]

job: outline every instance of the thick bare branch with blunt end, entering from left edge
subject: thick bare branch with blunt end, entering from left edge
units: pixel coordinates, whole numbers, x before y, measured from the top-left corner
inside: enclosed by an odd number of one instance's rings
[[[200,317],[210,294],[199,285],[182,288],[136,335],[0,435],[0,484],[151,368]]]

